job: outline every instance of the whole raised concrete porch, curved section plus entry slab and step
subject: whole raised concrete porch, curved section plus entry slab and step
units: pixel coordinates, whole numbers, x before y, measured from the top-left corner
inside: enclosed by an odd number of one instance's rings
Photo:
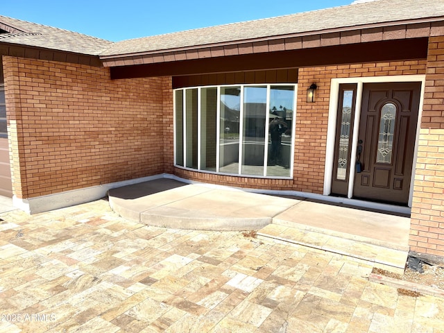
[[[365,259],[398,273],[407,262],[407,217],[167,178],[112,189],[109,197],[114,212],[146,225],[255,230],[261,239]]]

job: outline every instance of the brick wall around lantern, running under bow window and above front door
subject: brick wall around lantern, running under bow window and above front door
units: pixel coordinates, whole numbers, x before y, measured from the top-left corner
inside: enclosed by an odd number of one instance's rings
[[[425,74],[425,67],[426,60],[411,60],[299,69],[293,180],[220,176],[179,168],[174,173],[190,180],[219,185],[322,194],[331,79]],[[318,85],[316,103],[307,103],[307,88],[311,83]]]

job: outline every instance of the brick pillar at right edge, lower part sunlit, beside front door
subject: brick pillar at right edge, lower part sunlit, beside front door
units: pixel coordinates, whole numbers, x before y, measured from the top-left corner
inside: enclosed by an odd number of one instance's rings
[[[409,245],[444,257],[444,37],[429,39]]]

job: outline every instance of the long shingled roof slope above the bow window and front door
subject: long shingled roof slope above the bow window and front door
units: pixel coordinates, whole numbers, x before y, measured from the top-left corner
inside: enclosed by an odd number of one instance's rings
[[[314,35],[359,27],[433,22],[444,17],[444,0],[377,0],[312,12],[249,22],[199,28],[166,35],[142,37],[112,44],[101,53],[135,55],[273,39],[289,35]]]

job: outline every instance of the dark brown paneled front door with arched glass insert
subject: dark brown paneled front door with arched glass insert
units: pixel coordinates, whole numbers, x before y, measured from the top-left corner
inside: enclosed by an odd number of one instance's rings
[[[420,87],[420,83],[364,85],[354,198],[407,205]]]

